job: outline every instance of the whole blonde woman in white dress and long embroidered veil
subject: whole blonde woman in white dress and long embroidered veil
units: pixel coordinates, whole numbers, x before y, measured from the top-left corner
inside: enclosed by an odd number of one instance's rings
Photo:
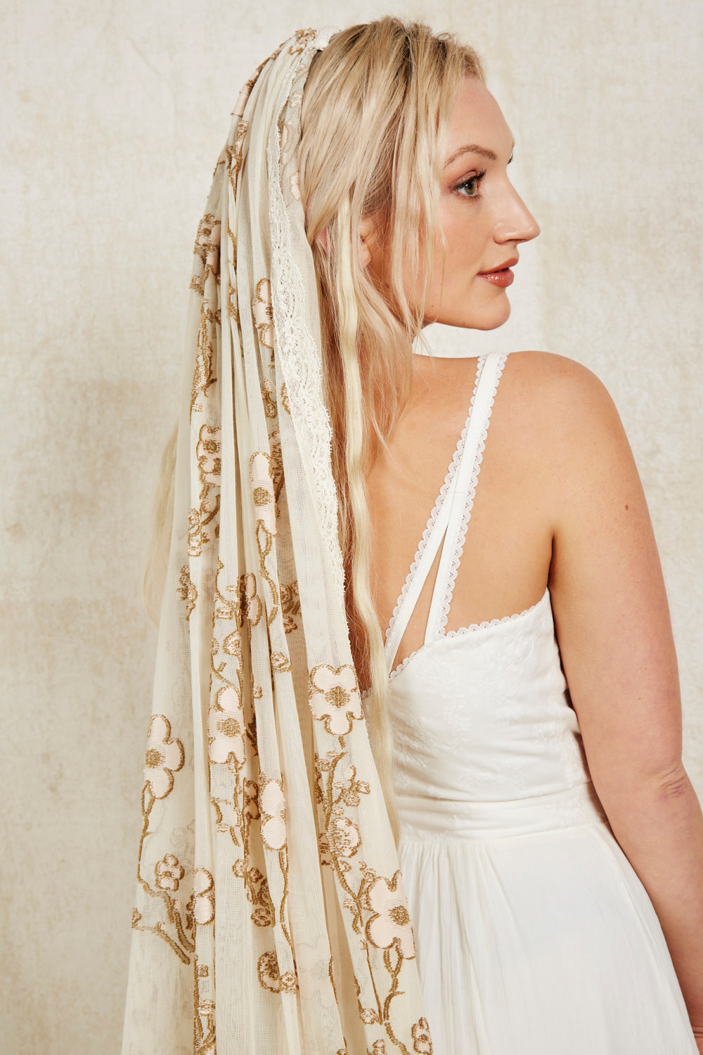
[[[475,55],[394,19],[296,34],[235,108],[125,1052],[703,1050],[703,820],[617,414],[559,357],[416,353],[508,315],[511,151]]]

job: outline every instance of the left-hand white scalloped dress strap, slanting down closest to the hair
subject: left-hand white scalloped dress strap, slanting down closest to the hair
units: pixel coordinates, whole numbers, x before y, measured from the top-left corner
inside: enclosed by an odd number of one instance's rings
[[[440,493],[437,501],[435,502],[427,528],[425,529],[423,539],[417,549],[417,553],[415,554],[415,559],[393,611],[390,626],[386,632],[385,653],[389,672],[392,669],[397,647],[401,644],[401,639],[408,627],[408,622],[410,621],[415,605],[417,603],[419,595],[423,591],[423,587],[427,581],[427,577],[430,573],[432,564],[434,563],[434,558],[436,557],[437,551],[442,545],[442,540],[446,535],[451,517],[451,510],[456,507],[455,494],[460,488],[462,493],[465,493],[467,486],[466,481],[472,478],[471,469],[475,462],[476,446],[481,443],[482,436],[485,435],[483,424],[486,414],[485,409],[483,409],[481,410],[482,427],[477,429],[477,440],[474,441],[476,428],[472,426],[472,422],[476,417],[476,407],[479,406],[479,408],[481,408],[486,403],[486,399],[483,396],[481,398],[481,403],[479,403],[480,392],[485,391],[487,382],[489,388],[488,413],[490,413],[490,403],[492,403],[492,396],[495,391],[494,380],[496,377],[496,361],[502,363],[504,360],[505,356],[496,356],[495,353],[482,356],[479,359],[476,365],[476,380],[473,395],[471,397],[469,416],[467,418],[466,425],[462,431],[456,450],[454,452],[454,457],[451,465],[449,466],[449,472],[445,477],[445,484]],[[490,364],[490,367],[488,368],[488,376],[486,377],[487,364]],[[497,375],[500,375],[500,367],[497,368]],[[484,380],[485,378],[486,380]],[[466,467],[467,460],[468,468]],[[460,501],[460,507],[462,507],[463,504],[464,503]]]

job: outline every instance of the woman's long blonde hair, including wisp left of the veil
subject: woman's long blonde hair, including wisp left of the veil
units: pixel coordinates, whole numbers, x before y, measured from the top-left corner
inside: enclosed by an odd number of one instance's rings
[[[424,303],[422,296],[410,303],[404,275],[424,274],[427,292],[435,232],[444,244],[437,224],[443,142],[464,76],[483,80],[470,47],[422,23],[387,17],[335,34],[314,57],[302,97],[299,186],[318,282],[347,614],[355,654],[370,675],[366,713],[396,839],[366,477],[409,394]],[[389,262],[384,289],[359,260],[367,217]],[[155,621],[169,558],[176,435],[174,429],[161,459],[142,584]]]

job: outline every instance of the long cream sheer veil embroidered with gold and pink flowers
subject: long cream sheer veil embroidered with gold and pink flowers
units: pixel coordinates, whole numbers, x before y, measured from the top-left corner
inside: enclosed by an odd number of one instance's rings
[[[430,1055],[351,658],[300,103],[247,83],[198,229],[123,1055]]]

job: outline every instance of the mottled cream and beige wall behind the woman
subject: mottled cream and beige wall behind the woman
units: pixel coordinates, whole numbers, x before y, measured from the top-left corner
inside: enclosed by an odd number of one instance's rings
[[[671,0],[9,0],[2,622],[8,1055],[119,1050],[155,634],[140,576],[192,243],[239,87],[294,28],[393,12],[487,61],[543,234],[513,316],[610,388],[649,497],[703,792],[703,9]]]

